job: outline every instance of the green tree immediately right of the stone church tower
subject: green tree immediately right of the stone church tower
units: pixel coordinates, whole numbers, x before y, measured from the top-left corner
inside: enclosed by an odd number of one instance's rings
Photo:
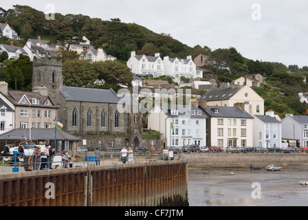
[[[70,87],[93,88],[98,74],[91,63],[85,60],[63,62],[63,84]]]

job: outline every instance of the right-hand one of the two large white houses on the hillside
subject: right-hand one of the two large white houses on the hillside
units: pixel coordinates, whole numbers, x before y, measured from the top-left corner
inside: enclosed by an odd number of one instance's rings
[[[191,56],[186,59],[164,56],[164,75],[173,76],[180,83],[181,76],[185,78],[202,78],[202,69],[197,67]]]

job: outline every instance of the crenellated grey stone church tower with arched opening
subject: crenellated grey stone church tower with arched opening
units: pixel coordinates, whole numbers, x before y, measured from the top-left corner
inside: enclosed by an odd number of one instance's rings
[[[38,59],[33,61],[32,88],[45,86],[48,95],[55,98],[63,87],[62,61]]]

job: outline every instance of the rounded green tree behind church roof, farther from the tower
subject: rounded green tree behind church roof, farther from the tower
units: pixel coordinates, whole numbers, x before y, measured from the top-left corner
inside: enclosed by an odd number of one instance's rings
[[[98,79],[110,85],[126,85],[131,87],[133,74],[131,69],[120,63],[120,61],[99,61],[92,64]]]

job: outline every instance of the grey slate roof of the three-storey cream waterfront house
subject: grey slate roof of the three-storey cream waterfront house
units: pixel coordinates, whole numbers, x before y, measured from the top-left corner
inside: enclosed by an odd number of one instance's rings
[[[214,109],[218,109],[218,112],[215,113]],[[215,117],[215,118],[254,118],[247,111],[243,111],[239,107],[214,106],[214,107],[207,107],[206,109],[203,110],[206,111],[206,113],[208,113],[210,117]]]

